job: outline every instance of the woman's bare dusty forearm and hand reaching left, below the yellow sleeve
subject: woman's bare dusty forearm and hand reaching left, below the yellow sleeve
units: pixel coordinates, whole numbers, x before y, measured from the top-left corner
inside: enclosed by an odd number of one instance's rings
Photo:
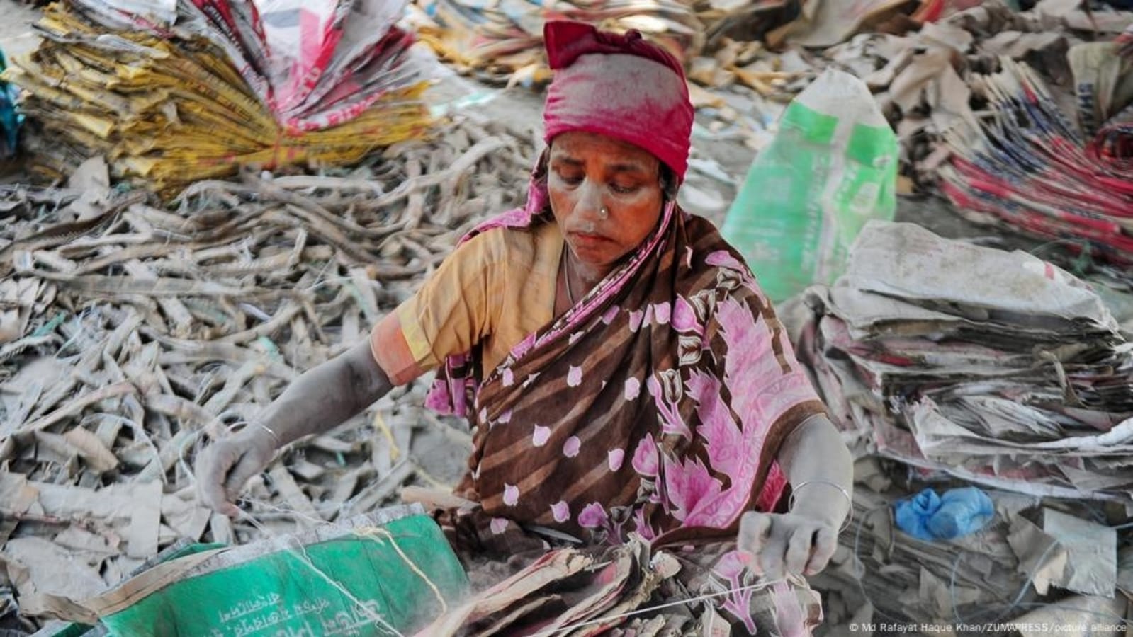
[[[204,449],[196,470],[201,500],[236,515],[232,500],[276,448],[342,424],[392,387],[368,341],[304,372],[248,427]]]

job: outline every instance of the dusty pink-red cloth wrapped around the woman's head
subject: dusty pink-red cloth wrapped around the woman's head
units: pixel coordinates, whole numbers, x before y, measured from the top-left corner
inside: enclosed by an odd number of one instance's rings
[[[543,111],[547,144],[571,130],[606,135],[653,153],[683,181],[693,110],[680,62],[637,31],[552,20],[543,35],[555,71]]]

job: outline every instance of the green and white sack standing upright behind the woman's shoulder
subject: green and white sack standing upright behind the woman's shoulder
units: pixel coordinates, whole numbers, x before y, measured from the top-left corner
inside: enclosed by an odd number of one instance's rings
[[[772,301],[833,283],[858,232],[896,212],[897,138],[869,89],[828,69],[787,106],[722,232]]]

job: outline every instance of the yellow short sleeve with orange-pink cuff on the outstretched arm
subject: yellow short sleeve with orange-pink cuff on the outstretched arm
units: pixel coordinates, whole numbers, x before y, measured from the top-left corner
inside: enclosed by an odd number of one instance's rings
[[[457,248],[412,298],[375,326],[370,347],[391,379],[407,367],[407,358],[419,371],[436,369],[493,333],[499,303],[489,301],[503,293],[497,272],[506,258],[503,234],[491,230]]]

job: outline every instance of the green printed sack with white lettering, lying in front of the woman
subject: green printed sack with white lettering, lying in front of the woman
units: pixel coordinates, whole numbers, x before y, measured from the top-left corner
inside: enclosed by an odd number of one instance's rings
[[[467,593],[420,506],[165,561],[83,605],[110,635],[398,635]]]

